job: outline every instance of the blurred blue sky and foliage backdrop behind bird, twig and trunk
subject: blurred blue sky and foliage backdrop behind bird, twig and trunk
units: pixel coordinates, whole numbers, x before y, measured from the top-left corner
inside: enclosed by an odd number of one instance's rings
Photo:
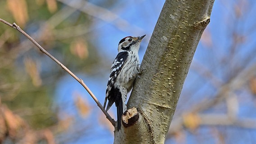
[[[119,40],[142,36],[142,61],[165,0],[0,0],[15,22],[101,103]],[[166,144],[256,143],[256,2],[215,0]],[[115,107],[110,115],[116,119]],[[0,23],[0,143],[112,144],[114,128],[85,89]]]

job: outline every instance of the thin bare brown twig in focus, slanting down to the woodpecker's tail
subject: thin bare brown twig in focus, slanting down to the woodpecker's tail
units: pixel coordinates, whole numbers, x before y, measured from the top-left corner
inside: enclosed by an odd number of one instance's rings
[[[91,90],[87,87],[87,85],[83,82],[82,79],[79,79],[75,74],[73,74],[73,72],[71,72],[67,67],[65,67],[62,63],[60,63],[55,57],[53,57],[50,53],[48,53],[44,48],[41,47],[41,45],[39,45],[37,43],[37,41],[35,41],[34,39],[32,39],[31,36],[29,36],[25,31],[23,31],[16,23],[8,23],[5,20],[0,18],[0,22],[7,24],[10,27],[13,27],[15,29],[17,29],[19,32],[21,32],[24,36],[26,36],[30,41],[32,41],[32,43],[34,43],[42,53],[46,54],[48,57],[50,57],[52,60],[54,60],[56,63],[59,64],[60,67],[62,67],[66,72],[68,72],[71,76],[73,76],[74,79],[76,79],[86,90],[87,92],[91,95],[92,99],[97,103],[97,106],[99,108],[101,108],[101,111],[105,114],[105,116],[107,117],[107,119],[111,122],[111,124],[113,126],[115,126],[115,121],[114,119],[109,115],[108,112],[105,111],[105,109],[103,108],[103,106],[101,105],[101,103],[98,101],[98,99],[96,98],[96,96],[91,92]]]

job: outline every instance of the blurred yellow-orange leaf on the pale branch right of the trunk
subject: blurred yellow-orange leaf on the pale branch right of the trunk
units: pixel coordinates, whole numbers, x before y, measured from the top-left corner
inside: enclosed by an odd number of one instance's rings
[[[197,129],[197,127],[200,125],[201,119],[200,117],[195,113],[188,113],[183,115],[183,124],[188,129],[194,131]]]

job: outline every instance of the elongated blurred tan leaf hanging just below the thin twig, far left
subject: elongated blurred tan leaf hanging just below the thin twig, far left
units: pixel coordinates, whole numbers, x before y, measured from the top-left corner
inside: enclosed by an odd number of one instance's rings
[[[25,69],[31,77],[33,85],[41,86],[42,80],[37,69],[37,63],[33,61],[31,58],[25,58],[24,63]]]

